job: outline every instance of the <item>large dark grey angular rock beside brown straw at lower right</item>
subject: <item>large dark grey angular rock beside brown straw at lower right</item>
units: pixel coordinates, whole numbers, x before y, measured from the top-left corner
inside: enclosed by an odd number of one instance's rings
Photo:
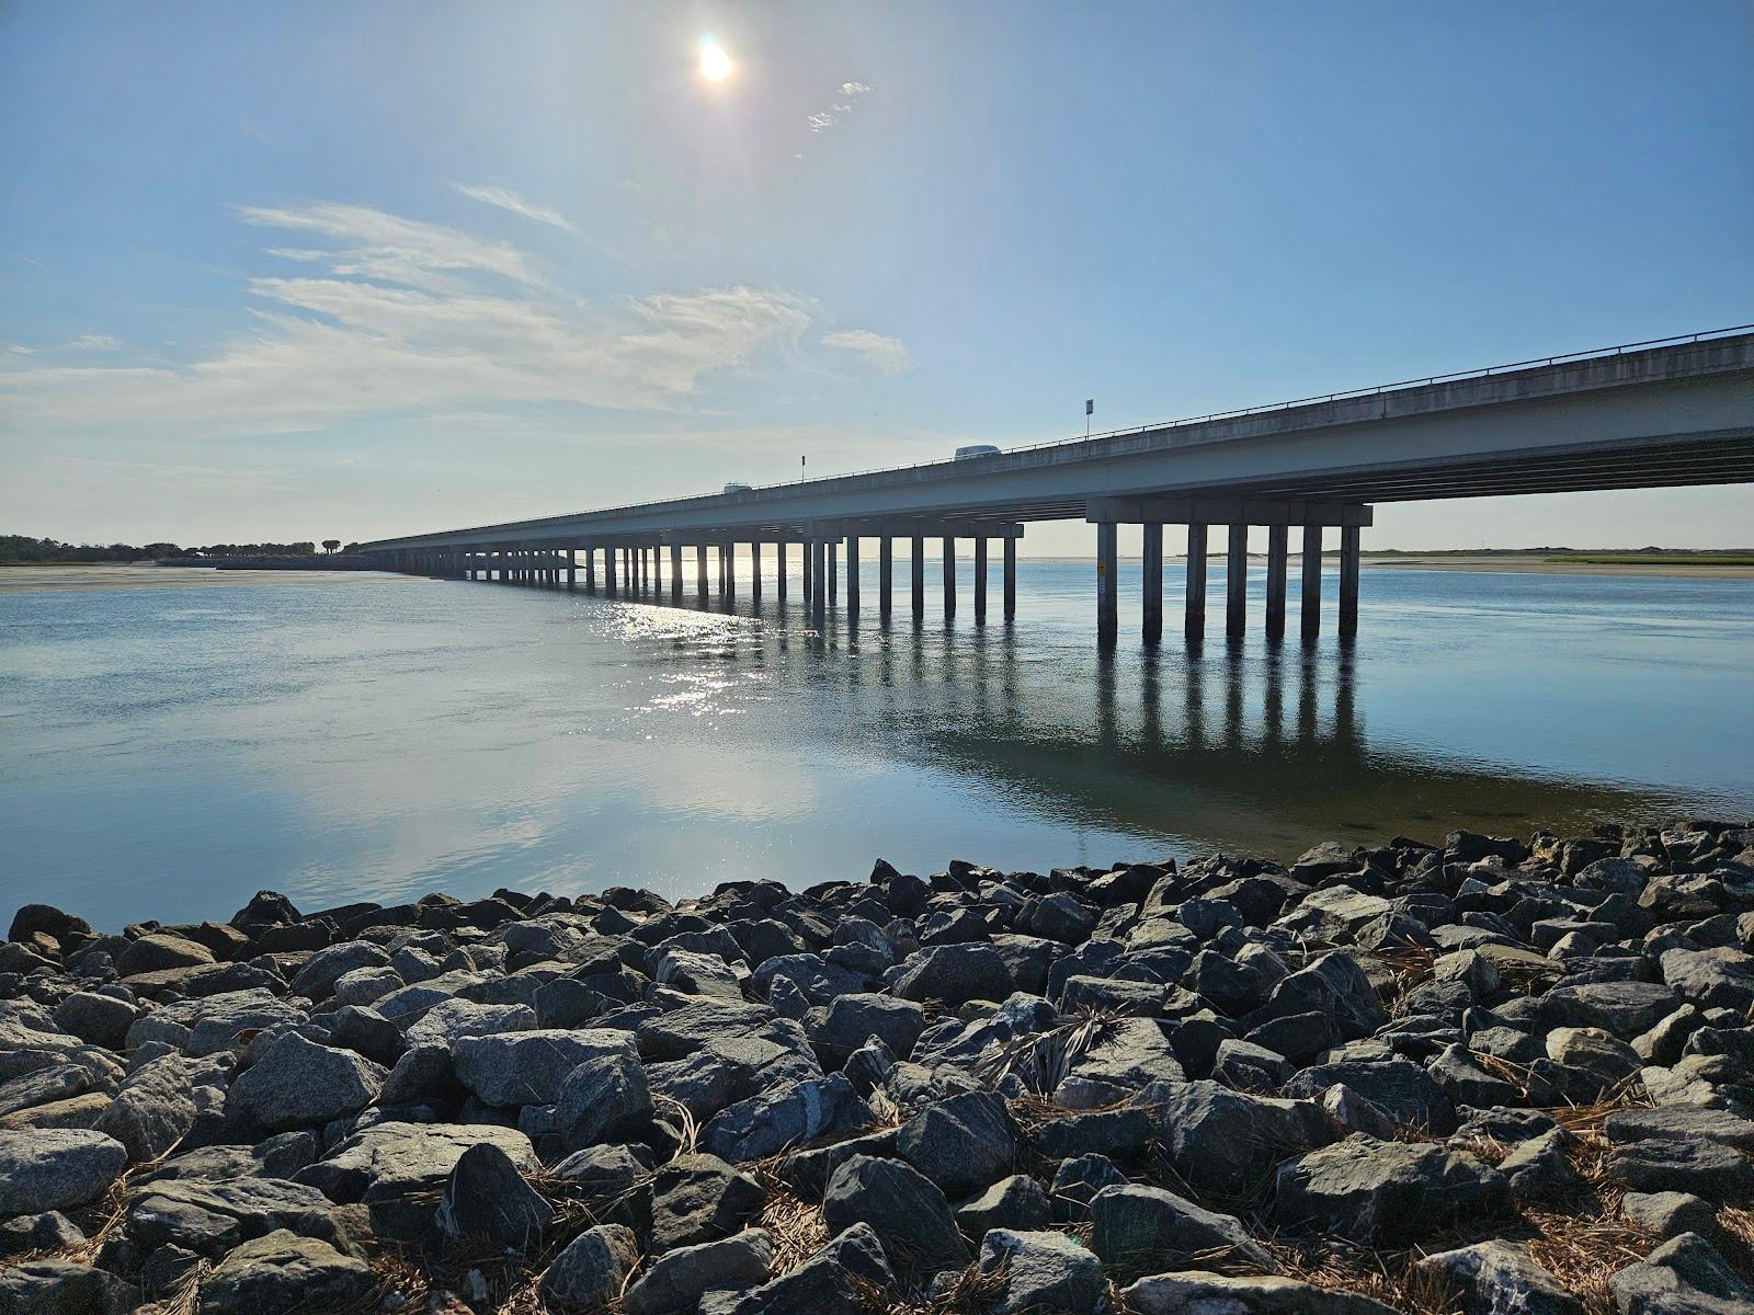
[[[1508,1205],[1508,1180],[1473,1155],[1354,1133],[1279,1168],[1273,1222],[1293,1234],[1398,1247]]]

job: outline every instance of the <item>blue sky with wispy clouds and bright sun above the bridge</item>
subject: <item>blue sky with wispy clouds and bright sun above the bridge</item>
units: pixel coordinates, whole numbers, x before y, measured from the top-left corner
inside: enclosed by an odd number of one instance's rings
[[[1747,0],[0,0],[0,533],[365,540],[1693,333],[1750,235]],[[1754,486],[1366,542],[1749,545]]]

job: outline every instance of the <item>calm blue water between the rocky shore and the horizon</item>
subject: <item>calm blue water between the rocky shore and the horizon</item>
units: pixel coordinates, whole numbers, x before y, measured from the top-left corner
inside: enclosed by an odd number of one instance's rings
[[[0,594],[0,917],[1754,812],[1750,580],[1366,570],[1358,643],[1330,607],[1303,652],[1259,635],[1259,572],[1228,645],[1214,563],[1212,638],[1180,643],[1172,589],[1149,654],[1123,563],[1105,661],[1087,561],[1023,563],[1012,629],[973,626],[961,573],[954,626],[933,587],[884,629],[868,566],[826,636],[796,580],[749,615],[747,563],[733,614],[400,579]]]

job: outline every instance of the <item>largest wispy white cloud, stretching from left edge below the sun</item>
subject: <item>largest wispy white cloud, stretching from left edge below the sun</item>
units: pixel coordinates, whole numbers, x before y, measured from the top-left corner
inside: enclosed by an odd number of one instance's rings
[[[4,424],[237,435],[519,403],[679,410],[817,316],[749,286],[591,307],[551,291],[517,247],[453,228],[328,202],[239,214],[314,240],[272,251],[324,268],[251,279],[253,328],[184,366],[0,361]]]

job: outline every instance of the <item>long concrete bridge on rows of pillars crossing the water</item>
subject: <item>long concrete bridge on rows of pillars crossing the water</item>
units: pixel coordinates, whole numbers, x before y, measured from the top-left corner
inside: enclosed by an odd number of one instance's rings
[[[1300,629],[1321,631],[1323,554],[1338,538],[1338,624],[1358,629],[1361,531],[1373,505],[1508,493],[1673,487],[1754,480],[1754,324],[1593,352],[1300,398],[1272,407],[931,461],[858,475],[775,484],[700,498],[474,526],[363,544],[388,570],[610,596],[684,596],[684,549],[695,593],[733,598],[747,544],[751,596],[761,551],[774,549],[784,601],[788,556],[803,554],[810,621],[830,608],[859,615],[859,551],[875,540],[877,610],[893,610],[895,542],[910,547],[912,615],[924,617],[924,544],[942,544],[944,612],[956,614],[956,544],[973,544],[973,619],[988,614],[988,549],[1000,545],[1002,607],[1016,610],[1017,542],[1030,521],[1096,526],[1096,636],[1117,638],[1117,526],[1144,526],[1144,638],[1163,635],[1163,526],[1187,528],[1184,628],[1205,626],[1210,533],[1228,558],[1226,631],[1247,626],[1251,526],[1266,528],[1270,638],[1286,629],[1291,531],[1300,535]],[[668,551],[668,552],[665,552]],[[842,568],[844,552],[844,568]]]

